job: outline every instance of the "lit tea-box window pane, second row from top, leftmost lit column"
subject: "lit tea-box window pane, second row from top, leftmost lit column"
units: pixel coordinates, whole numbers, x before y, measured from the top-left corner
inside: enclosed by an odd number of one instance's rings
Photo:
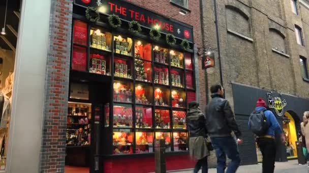
[[[90,50],[89,54],[89,72],[103,75],[110,75],[111,56],[108,53],[101,53],[96,50]]]

